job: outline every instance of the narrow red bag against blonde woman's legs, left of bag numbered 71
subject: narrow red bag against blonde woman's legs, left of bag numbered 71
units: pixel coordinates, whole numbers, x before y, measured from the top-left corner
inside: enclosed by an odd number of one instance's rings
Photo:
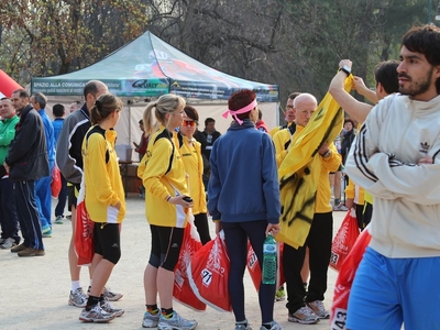
[[[187,268],[196,251],[200,250],[202,244],[200,235],[194,224],[194,217],[190,215],[188,223],[184,232],[184,241],[182,244],[179,260],[174,268],[174,289],[173,297],[180,304],[201,311],[206,310],[206,304],[200,301],[194,294],[189,284]]]

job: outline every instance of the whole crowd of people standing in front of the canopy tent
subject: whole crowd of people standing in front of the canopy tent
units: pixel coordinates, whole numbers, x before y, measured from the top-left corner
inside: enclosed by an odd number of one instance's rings
[[[376,66],[374,91],[361,77],[351,75],[350,59],[340,61],[329,92],[345,111],[343,130],[336,141],[321,141],[310,156],[310,167],[304,168],[302,175],[315,179],[314,197],[308,201],[312,215],[306,219],[304,244],[284,244],[278,262],[286,290],[260,283],[260,330],[282,329],[273,318],[277,300],[287,299],[290,322],[314,324],[330,317],[323,300],[332,212],[352,208],[360,230],[369,226],[372,241],[353,283],[346,328],[400,329],[403,323],[405,329],[439,328],[439,47],[440,29],[409,30],[403,37],[400,61]],[[344,89],[348,77],[353,79],[352,88],[375,106],[360,102]],[[109,302],[122,294],[106,287],[121,257],[120,224],[125,217],[114,151],[114,127],[123,106],[99,80],[86,84],[84,99],[84,105],[70,105],[66,118],[64,106],[55,105],[53,122],[42,94],[19,89],[0,100],[0,248],[22,257],[45,255],[43,238],[51,237],[54,229],[51,174],[59,168],[63,184],[54,223],[67,219],[67,202],[73,227],[68,304],[82,308],[81,321],[108,322],[124,314]],[[290,226],[280,220],[278,169],[297,147],[298,138],[311,131],[307,128],[317,109],[314,95],[293,92],[285,109],[286,124],[270,131],[255,92],[240,90],[229,98],[223,117],[230,116],[232,122],[221,134],[212,118],[206,119],[200,132],[197,109],[179,96],[164,95],[146,106],[140,121],[142,139],[134,144],[151,231],[143,278],[144,328],[198,326],[173,307],[174,270],[189,218],[194,216],[206,244],[211,240],[210,216],[216,234],[223,231],[229,251],[228,290],[235,330],[251,329],[243,285],[248,242],[262,265],[265,238]],[[346,183],[344,201],[341,182]],[[76,222],[82,221],[76,211],[80,189],[94,223],[95,254],[87,293],[80,285],[74,246]]]

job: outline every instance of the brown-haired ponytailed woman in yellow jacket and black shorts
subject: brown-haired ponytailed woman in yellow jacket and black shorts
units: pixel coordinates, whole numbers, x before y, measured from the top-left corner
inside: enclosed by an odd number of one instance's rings
[[[102,292],[121,257],[120,223],[125,216],[125,199],[114,142],[113,130],[122,110],[122,101],[103,94],[90,109],[92,127],[82,141],[85,202],[95,222],[92,260],[94,274],[86,307],[79,319],[85,322],[108,322],[124,310],[116,309]]]

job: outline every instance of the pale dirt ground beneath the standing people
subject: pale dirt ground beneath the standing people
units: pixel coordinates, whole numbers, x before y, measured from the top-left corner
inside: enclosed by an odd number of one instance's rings
[[[53,208],[56,200],[53,200]],[[150,229],[144,217],[144,201],[136,195],[128,198],[127,218],[121,233],[122,256],[114,267],[108,286],[123,298],[113,302],[125,314],[108,324],[82,323],[78,320],[80,308],[67,305],[70,278],[67,249],[72,224],[53,224],[53,237],[44,239],[45,256],[19,257],[9,250],[0,250],[0,329],[143,329],[145,311],[143,272],[150,253]],[[345,212],[333,212],[336,232]],[[211,226],[213,237],[213,224]],[[329,286],[324,305],[331,306],[337,273],[329,270]],[[89,285],[87,268],[81,270],[81,285]],[[253,329],[260,329],[261,317],[255,288],[245,275],[246,317]],[[234,328],[232,314],[207,308],[193,311],[179,304],[174,308],[185,318],[198,320],[199,330],[227,330]],[[275,302],[274,318],[284,329],[330,329],[328,320],[304,326],[287,321],[285,302]]]

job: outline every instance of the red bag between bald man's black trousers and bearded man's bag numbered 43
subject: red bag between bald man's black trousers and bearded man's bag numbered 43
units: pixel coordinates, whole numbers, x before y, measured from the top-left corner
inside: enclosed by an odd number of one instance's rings
[[[354,209],[350,209],[331,244],[330,267],[339,271],[359,237],[359,227]]]

